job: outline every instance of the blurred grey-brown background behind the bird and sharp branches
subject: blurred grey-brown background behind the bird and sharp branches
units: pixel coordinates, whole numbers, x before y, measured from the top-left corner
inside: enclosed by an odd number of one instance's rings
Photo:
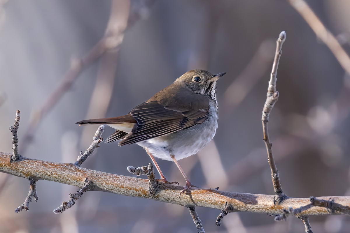
[[[75,162],[98,127],[75,122],[125,115],[188,70],[227,72],[217,84],[214,140],[180,165],[198,187],[273,194],[261,111],[275,40],[285,30],[280,98],[269,122],[283,191],[291,197],[350,195],[349,70],[291,2],[0,1],[0,151],[12,153],[8,128],[19,109],[20,154]],[[349,54],[350,1],[307,3]],[[105,32],[120,46],[91,52]],[[107,127],[103,137],[113,131]],[[158,161],[169,181],[184,185],[173,162]],[[132,176],[127,166],[149,162],[140,146],[111,143],[82,166]],[[37,182],[39,201],[28,213],[15,214],[28,187],[26,179],[0,174],[0,232],[197,232],[187,208],[103,192],[85,193],[56,215],[53,210],[78,188],[49,181]],[[197,213],[206,232],[304,231],[295,217],[275,222],[267,214],[230,213],[217,227],[219,210],[197,207]],[[310,217],[310,223],[314,232],[350,227],[347,216]]]

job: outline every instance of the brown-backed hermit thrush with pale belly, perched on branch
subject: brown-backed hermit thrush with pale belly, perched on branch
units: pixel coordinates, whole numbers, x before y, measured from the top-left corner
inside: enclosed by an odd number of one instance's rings
[[[106,143],[121,140],[120,146],[136,143],[144,147],[163,182],[169,183],[154,157],[173,160],[186,180],[184,192],[195,186],[177,160],[202,150],[214,137],[218,127],[215,87],[224,74],[188,71],[125,116],[89,119],[76,124],[107,124],[116,132]]]

